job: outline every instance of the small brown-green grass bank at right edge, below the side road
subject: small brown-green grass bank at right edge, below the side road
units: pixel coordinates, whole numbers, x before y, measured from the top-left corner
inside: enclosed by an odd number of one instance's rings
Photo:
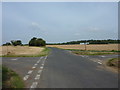
[[[110,67],[120,68],[120,58],[109,59],[107,65]]]

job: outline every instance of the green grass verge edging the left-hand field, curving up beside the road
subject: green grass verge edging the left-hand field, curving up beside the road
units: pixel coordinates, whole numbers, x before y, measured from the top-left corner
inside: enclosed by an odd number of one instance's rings
[[[36,55],[4,55],[4,56],[1,56],[1,57],[41,57],[41,56],[48,55],[49,52],[50,52],[50,49],[47,48],[47,47],[44,47],[42,52],[40,52],[39,54],[36,54]]]

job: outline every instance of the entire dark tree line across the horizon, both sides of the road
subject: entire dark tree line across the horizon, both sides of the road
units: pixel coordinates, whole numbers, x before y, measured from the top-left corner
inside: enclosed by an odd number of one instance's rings
[[[3,46],[6,45],[13,45],[13,46],[45,46],[45,45],[69,45],[69,44],[80,44],[80,43],[89,43],[89,44],[120,44],[120,40],[113,40],[113,39],[107,39],[107,40],[80,40],[80,41],[70,41],[70,42],[63,42],[63,43],[46,43],[45,40],[42,38],[36,38],[33,37],[28,44],[22,44],[21,40],[12,40],[11,42],[7,42],[3,44]]]

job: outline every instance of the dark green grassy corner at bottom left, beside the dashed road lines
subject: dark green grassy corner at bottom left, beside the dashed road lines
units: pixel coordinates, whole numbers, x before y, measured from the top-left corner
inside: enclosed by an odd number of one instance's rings
[[[2,88],[24,88],[24,82],[14,71],[2,66]]]

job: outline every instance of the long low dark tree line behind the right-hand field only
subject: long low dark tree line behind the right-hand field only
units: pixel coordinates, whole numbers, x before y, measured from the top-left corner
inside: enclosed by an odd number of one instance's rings
[[[64,43],[47,43],[47,45],[68,45],[68,44],[80,44],[80,43],[89,43],[89,44],[119,44],[120,40],[80,40],[80,41],[70,41]]]

